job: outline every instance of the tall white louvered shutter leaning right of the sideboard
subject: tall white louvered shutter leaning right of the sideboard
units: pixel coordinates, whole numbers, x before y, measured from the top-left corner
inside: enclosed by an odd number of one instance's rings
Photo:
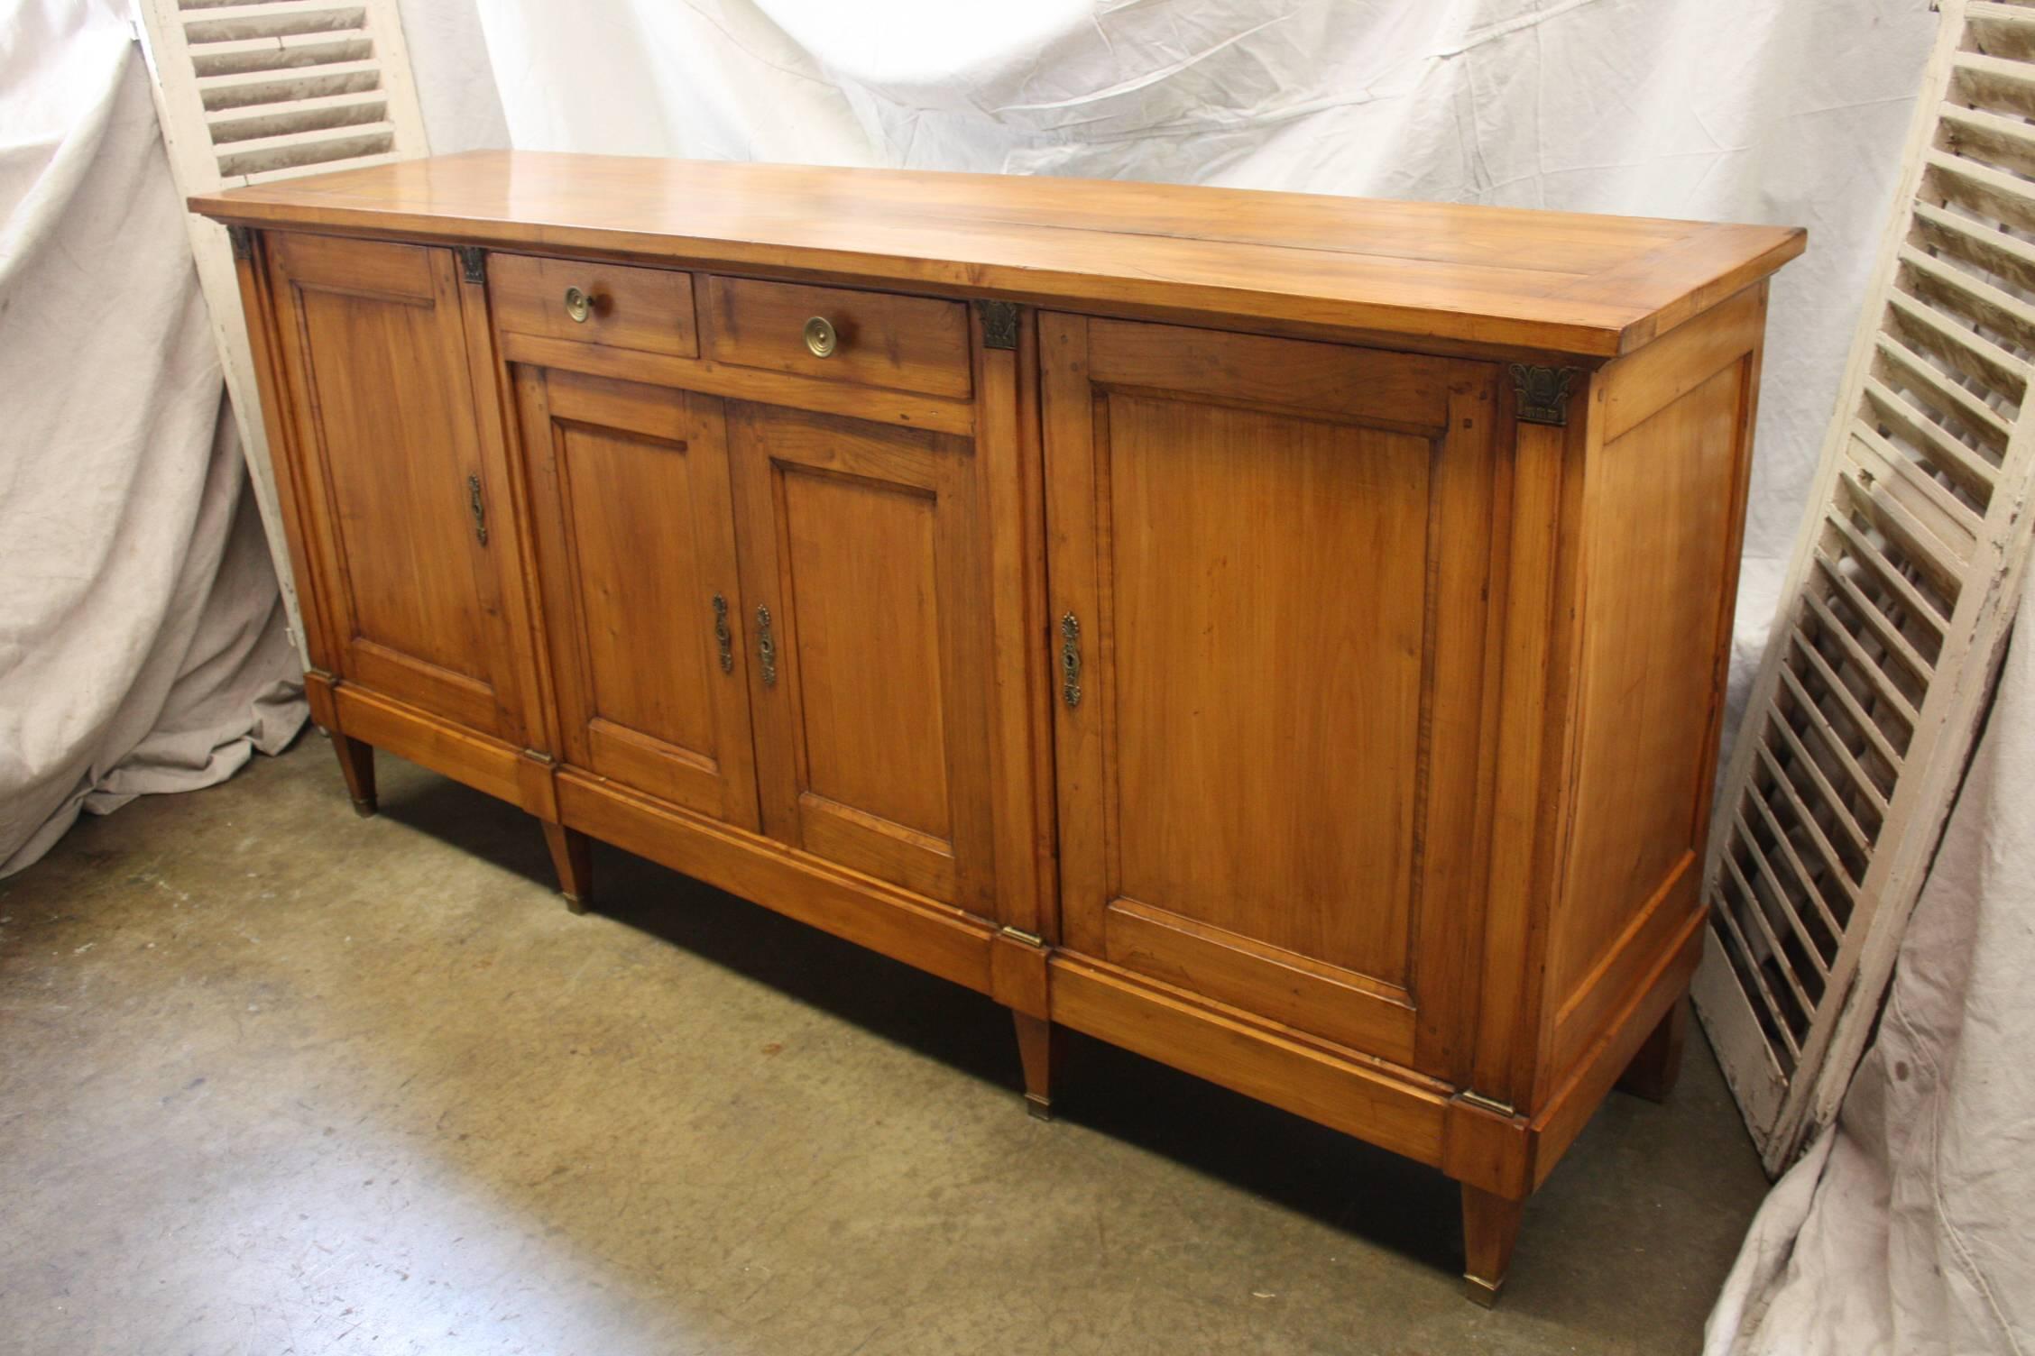
[[[1768,1173],[1872,1033],[2029,557],[2035,2],[1941,10],[1705,864],[1695,1002]]]

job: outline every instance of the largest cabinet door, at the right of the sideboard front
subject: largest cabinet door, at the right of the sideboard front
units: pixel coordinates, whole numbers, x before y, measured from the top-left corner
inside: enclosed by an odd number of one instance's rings
[[[1040,333],[1062,943],[1445,1065],[1479,917],[1494,370]]]

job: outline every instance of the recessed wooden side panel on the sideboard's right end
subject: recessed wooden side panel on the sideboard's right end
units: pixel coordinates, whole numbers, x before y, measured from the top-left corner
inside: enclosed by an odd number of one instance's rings
[[[1764,287],[1591,384],[1575,809],[1543,1000],[1543,1096],[1697,911],[1738,594]]]

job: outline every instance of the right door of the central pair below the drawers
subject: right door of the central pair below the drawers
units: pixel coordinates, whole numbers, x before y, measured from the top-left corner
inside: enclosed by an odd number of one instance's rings
[[[967,439],[729,407],[765,827],[991,913]]]

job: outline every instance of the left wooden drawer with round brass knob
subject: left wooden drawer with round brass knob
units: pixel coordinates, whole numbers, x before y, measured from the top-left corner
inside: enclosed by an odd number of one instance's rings
[[[578,289],[588,305],[574,305]],[[509,333],[698,358],[692,274],[574,258],[488,254],[495,323]]]

